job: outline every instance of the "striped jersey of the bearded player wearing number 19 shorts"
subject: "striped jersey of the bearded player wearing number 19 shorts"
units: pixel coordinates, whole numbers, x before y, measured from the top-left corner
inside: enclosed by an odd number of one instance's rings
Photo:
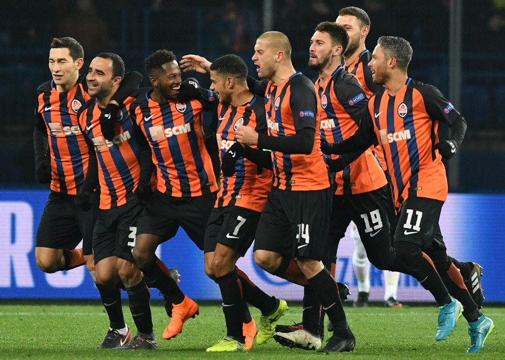
[[[327,142],[343,141],[358,130],[363,112],[367,110],[367,97],[360,83],[342,67],[321,85],[316,80],[318,117],[321,137]],[[334,158],[338,155],[333,155]],[[384,171],[371,148],[335,174],[335,195],[367,193],[383,187],[387,181]]]

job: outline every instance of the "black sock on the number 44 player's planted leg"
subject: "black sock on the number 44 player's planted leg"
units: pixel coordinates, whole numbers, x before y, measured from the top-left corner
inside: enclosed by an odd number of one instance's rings
[[[332,321],[334,331],[336,328],[347,328],[345,312],[340,302],[337,284],[330,275],[330,272],[326,268],[322,269],[316,276],[309,279],[309,286],[323,306],[328,319]]]

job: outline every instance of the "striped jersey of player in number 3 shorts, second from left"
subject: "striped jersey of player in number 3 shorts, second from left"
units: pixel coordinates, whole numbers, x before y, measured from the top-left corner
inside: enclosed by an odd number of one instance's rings
[[[120,108],[115,125],[118,134],[112,141],[102,134],[100,115],[95,98],[84,104],[79,112],[79,125],[95,147],[100,183],[100,209],[110,209],[126,204],[133,197],[140,177],[141,145],[143,134],[128,114],[135,95],[126,98]],[[145,140],[144,140],[145,142]]]

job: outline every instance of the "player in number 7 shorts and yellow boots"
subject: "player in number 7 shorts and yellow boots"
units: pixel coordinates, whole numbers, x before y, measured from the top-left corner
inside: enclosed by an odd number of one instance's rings
[[[246,300],[261,310],[258,344],[264,342],[264,320],[268,323],[269,316],[286,303],[268,296],[235,266],[254,240],[272,182],[271,171],[244,158],[237,160],[244,147],[235,142],[235,130],[250,126],[266,133],[265,105],[262,98],[248,90],[247,66],[240,57],[220,57],[209,70],[210,90],[219,99],[215,128],[222,173],[205,234],[205,268],[221,290],[227,336],[207,351],[243,351],[251,349],[256,325],[252,317],[243,321],[242,302]]]

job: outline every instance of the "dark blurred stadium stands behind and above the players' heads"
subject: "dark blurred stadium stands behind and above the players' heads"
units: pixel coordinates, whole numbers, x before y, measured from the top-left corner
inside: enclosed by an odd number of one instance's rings
[[[453,0],[454,1],[454,0]],[[367,48],[380,35],[408,39],[414,49],[409,75],[449,95],[449,0],[259,0],[2,2],[0,22],[0,187],[40,187],[34,179],[33,104],[38,84],[51,78],[53,37],[73,36],[84,46],[85,66],[101,51],[120,54],[127,70],[142,73],[143,60],[160,48],[214,59],[226,53],[250,60],[256,37],[279,30],[293,45],[297,70],[306,67],[309,39],[323,20],[344,6],[362,7],[371,18]],[[462,86],[456,107],[468,132],[457,165],[449,163],[452,192],[503,193],[505,175],[505,1],[462,1]],[[264,5],[271,4],[271,29]],[[267,20],[267,21],[265,21]],[[186,76],[186,74],[185,74]],[[205,76],[196,75],[205,86]],[[144,80],[144,85],[147,82]],[[452,100],[454,102],[454,100]],[[443,128],[443,126],[442,126]],[[446,135],[444,133],[443,135]],[[451,171],[453,174],[451,174]],[[457,172],[457,174],[454,174]],[[456,175],[456,176],[454,176]],[[42,188],[46,188],[43,186]]]

